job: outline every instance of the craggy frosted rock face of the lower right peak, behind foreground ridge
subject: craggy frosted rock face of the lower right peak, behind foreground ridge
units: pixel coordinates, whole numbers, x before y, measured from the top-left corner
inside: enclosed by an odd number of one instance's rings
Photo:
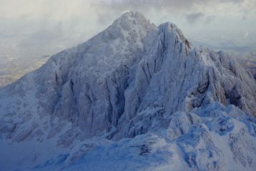
[[[124,127],[126,122],[122,115],[121,136],[147,133],[151,123],[139,130],[131,125],[136,122],[134,120],[144,120],[138,113],[148,113],[147,110],[152,109],[156,110],[152,116],[155,118],[159,113],[189,112],[218,101],[255,115],[255,81],[250,73],[231,61],[227,53],[191,48],[174,24],[162,24],[156,31],[154,44],[145,46],[144,58],[135,64],[131,76],[134,79],[125,91],[124,114],[130,121]]]

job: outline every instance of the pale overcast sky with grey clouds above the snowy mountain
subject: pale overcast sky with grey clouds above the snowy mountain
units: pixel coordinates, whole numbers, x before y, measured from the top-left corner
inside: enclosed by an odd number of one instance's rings
[[[126,11],[154,24],[171,21],[185,36],[213,45],[253,46],[256,0],[0,0],[0,48],[29,56],[86,41]],[[0,49],[1,55],[1,49]]]

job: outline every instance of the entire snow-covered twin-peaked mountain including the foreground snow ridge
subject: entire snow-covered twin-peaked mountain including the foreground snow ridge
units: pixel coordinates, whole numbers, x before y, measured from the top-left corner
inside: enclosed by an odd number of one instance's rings
[[[0,164],[254,170],[255,104],[255,79],[225,52],[129,12],[0,89]]]

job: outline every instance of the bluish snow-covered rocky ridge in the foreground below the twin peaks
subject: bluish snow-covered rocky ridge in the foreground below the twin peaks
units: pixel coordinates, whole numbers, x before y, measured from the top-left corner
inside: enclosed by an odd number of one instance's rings
[[[167,120],[167,128],[117,142],[86,140],[21,170],[254,170],[255,119],[234,105],[212,103]]]

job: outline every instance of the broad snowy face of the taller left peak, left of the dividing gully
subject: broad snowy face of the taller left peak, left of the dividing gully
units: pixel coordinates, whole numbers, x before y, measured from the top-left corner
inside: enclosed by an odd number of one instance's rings
[[[11,113],[18,116],[26,112],[24,120],[30,120],[31,125],[41,126],[36,118],[45,118],[44,128],[39,130],[46,138],[54,137],[67,122],[79,128],[76,136],[81,138],[108,132],[124,112],[129,70],[141,58],[144,38],[154,28],[142,14],[124,14],[89,41],[52,56],[37,71],[2,89],[3,133],[11,130],[14,138],[13,128],[19,130],[14,125],[24,122],[8,118],[14,118]],[[18,110],[6,108],[14,101]]]

